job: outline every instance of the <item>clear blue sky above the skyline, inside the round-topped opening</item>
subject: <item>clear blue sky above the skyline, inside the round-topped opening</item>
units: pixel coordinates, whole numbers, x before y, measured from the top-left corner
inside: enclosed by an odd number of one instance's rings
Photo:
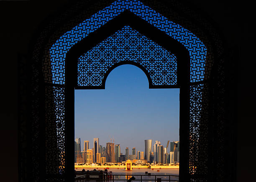
[[[136,66],[115,68],[106,80],[105,90],[75,90],[75,137],[100,138],[106,147],[110,138],[125,147],[144,151],[144,140],[179,140],[179,89],[148,89],[145,73]],[[153,147],[153,146],[152,146]],[[152,148],[153,149],[153,148]],[[168,150],[169,151],[169,150]]]

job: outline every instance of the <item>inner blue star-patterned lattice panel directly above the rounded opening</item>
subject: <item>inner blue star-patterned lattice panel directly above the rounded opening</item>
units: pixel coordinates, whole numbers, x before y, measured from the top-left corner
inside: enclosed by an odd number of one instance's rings
[[[152,85],[177,85],[177,59],[129,26],[100,42],[78,60],[78,86],[102,86],[106,72],[122,61],[144,67]]]

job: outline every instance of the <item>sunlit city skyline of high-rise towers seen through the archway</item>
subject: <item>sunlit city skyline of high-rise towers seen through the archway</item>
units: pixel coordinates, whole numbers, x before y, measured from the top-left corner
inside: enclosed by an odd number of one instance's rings
[[[145,152],[137,151],[136,153],[136,147],[133,147],[131,155],[128,147],[125,147],[125,155],[120,153],[120,144],[115,145],[112,142],[107,142],[106,147],[102,147],[102,145],[99,145],[99,138],[94,138],[94,147],[92,149],[88,147],[89,141],[85,140],[86,147],[84,149],[86,148],[87,150],[81,151],[80,141],[80,138],[76,138],[74,141],[75,163],[118,163],[129,159],[133,163],[141,164],[179,164],[179,141],[169,143],[168,140],[166,147],[161,145],[160,141],[155,141],[152,150],[152,140],[144,140]],[[98,147],[100,148],[99,151],[97,150]]]

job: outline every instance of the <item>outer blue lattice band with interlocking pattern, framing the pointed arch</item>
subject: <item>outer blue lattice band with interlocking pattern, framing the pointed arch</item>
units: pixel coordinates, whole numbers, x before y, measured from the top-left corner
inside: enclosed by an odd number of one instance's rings
[[[52,82],[56,84],[65,83],[65,58],[67,52],[73,45],[125,10],[130,10],[138,17],[141,17],[146,22],[181,42],[187,48],[190,55],[190,81],[197,82],[204,80],[207,48],[196,35],[181,25],[168,20],[138,0],[116,0],[79,23],[72,30],[64,33],[52,45],[50,49]]]

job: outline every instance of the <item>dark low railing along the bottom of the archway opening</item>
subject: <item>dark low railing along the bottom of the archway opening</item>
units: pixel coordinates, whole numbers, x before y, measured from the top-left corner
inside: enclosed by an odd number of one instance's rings
[[[125,176],[125,179],[120,179],[121,176]],[[150,179],[145,179],[145,177]],[[154,177],[154,178],[151,178]],[[159,178],[159,177],[163,177]],[[144,179],[143,179],[144,178]],[[172,179],[171,179],[172,178]],[[177,179],[173,179],[177,178]],[[148,181],[148,182],[161,182],[161,181],[179,181],[179,175],[106,175],[106,174],[95,174],[95,175],[82,175],[77,174],[75,182],[86,182],[86,181],[104,181],[104,182],[115,182],[115,181]]]

